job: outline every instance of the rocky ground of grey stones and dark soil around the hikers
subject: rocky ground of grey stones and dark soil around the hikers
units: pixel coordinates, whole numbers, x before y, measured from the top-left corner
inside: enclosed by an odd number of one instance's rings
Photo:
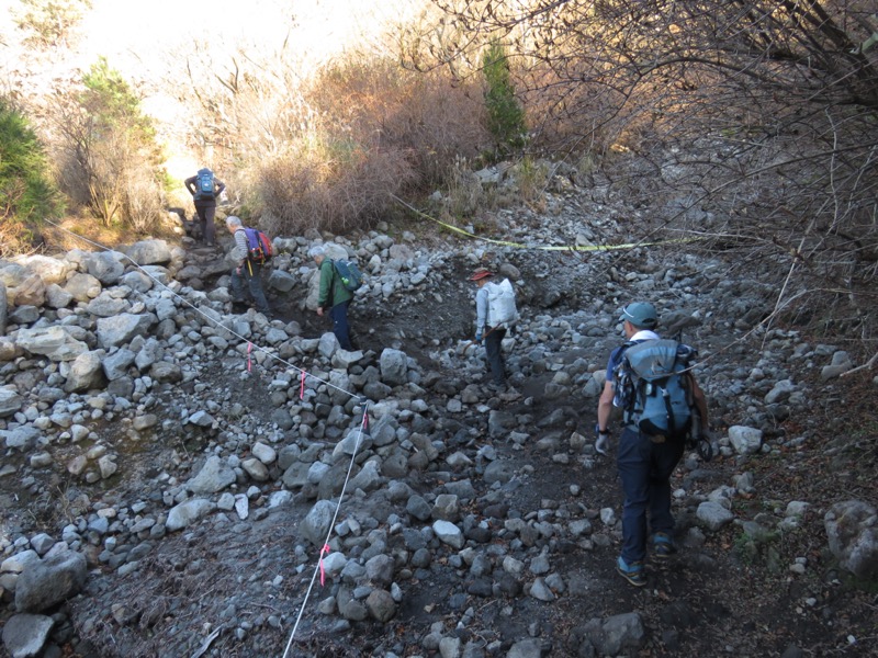
[[[635,215],[567,185],[497,226],[623,242]],[[188,239],[0,263],[9,655],[876,653],[876,383],[842,376],[869,354],[761,325],[756,265],[382,226],[335,238],[369,274],[348,353],[311,310],[322,238],[278,240],[271,319],[228,315],[228,264]],[[499,395],[468,345],[480,264],[522,315]],[[680,551],[642,589],[592,446],[631,299],[699,348],[721,453],[684,458]]]

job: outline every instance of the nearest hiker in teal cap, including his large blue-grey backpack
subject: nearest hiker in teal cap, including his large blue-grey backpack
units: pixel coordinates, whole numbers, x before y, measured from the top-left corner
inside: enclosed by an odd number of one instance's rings
[[[650,530],[654,558],[666,559],[676,552],[671,474],[691,434],[708,427],[707,401],[690,370],[697,352],[662,340],[653,331],[658,316],[652,304],[629,304],[619,319],[626,342],[612,351],[607,364],[607,382],[597,407],[595,450],[607,454],[610,415],[614,407],[621,408],[624,429],[619,435],[616,464],[624,506],[622,551],[616,570],[631,585],[643,587]]]

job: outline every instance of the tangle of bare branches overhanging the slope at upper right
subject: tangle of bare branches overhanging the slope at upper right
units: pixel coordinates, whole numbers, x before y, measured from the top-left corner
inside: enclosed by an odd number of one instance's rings
[[[545,117],[533,144],[595,152],[611,189],[629,191],[651,219],[644,230],[746,250],[742,262],[761,261],[778,282],[779,307],[813,291],[832,308],[826,295],[874,313],[874,9],[856,0],[434,2],[444,29],[425,30],[410,60],[461,71],[504,39],[529,115]],[[864,316],[859,327],[868,325]]]

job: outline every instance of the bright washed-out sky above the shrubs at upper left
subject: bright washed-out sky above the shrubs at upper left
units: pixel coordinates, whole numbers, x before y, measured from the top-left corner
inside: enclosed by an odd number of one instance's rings
[[[76,80],[106,57],[110,66],[144,94],[142,106],[173,125],[187,112],[168,86],[189,83],[185,58],[193,42],[209,44],[217,70],[233,52],[280,52],[291,61],[311,65],[362,44],[389,22],[413,15],[428,0],[91,0],[91,10],[68,47],[35,53],[21,47],[25,33],[15,27],[21,0],[0,0],[0,92],[19,88],[43,93],[57,80]],[[305,72],[305,71],[303,71]],[[180,166],[188,171],[191,163]],[[176,166],[172,169],[177,169]]]

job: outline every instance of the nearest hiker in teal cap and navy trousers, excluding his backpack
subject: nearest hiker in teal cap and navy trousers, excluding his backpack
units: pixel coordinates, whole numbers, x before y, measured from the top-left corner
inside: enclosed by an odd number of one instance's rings
[[[658,340],[653,331],[658,325],[658,316],[652,304],[634,302],[622,311],[621,318],[626,342]],[[608,423],[614,405],[618,400],[614,386],[614,372],[622,360],[626,345],[616,348],[607,364],[607,382],[600,394],[597,407],[597,441],[595,450],[607,454],[609,446]],[[705,394],[695,381],[691,371],[688,377],[693,401],[701,417],[702,427],[708,427],[707,401]],[[616,399],[615,399],[616,398]],[[624,492],[622,510],[622,551],[616,563],[616,570],[635,587],[646,585],[643,561],[646,557],[649,525],[652,529],[652,553],[657,559],[665,559],[676,552],[674,545],[674,517],[671,513],[671,474],[677,467],[685,441],[661,440],[640,431],[637,426],[622,429],[619,435],[616,463],[619,479]]]

